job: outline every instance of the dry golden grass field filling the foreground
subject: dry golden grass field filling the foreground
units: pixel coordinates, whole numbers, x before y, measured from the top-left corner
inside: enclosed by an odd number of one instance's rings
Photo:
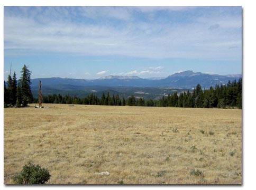
[[[242,183],[241,110],[43,106],[4,109],[5,184],[29,160],[48,184]]]

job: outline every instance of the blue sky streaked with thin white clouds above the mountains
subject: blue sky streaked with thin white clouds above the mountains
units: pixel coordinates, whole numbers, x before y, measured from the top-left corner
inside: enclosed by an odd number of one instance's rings
[[[4,6],[4,80],[242,73],[241,6]],[[12,68],[11,68],[12,65]]]

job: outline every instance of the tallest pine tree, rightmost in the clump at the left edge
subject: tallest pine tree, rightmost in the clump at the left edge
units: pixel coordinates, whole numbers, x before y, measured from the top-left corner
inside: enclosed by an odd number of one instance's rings
[[[31,71],[26,67],[26,65],[22,68],[22,76],[21,76],[21,93],[22,93],[22,106],[25,107],[28,105],[28,103],[33,101],[33,96],[31,92]]]

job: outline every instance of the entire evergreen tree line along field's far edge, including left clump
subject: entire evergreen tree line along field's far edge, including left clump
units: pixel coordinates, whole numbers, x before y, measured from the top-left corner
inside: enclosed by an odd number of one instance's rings
[[[21,78],[16,79],[16,73],[8,75],[4,81],[4,107],[26,107],[28,103],[38,103],[31,92],[31,71],[23,66]],[[42,97],[43,103],[63,103],[77,105],[105,105],[105,106],[148,106],[148,107],[181,107],[181,108],[228,108],[237,107],[242,109],[242,78],[238,81],[228,81],[227,84],[215,88],[202,89],[197,84],[193,91],[177,92],[162,96],[158,100],[144,100],[134,95],[129,98],[120,97],[118,94],[111,96],[109,92],[98,98],[93,93],[84,98],[61,96],[51,94]]]

